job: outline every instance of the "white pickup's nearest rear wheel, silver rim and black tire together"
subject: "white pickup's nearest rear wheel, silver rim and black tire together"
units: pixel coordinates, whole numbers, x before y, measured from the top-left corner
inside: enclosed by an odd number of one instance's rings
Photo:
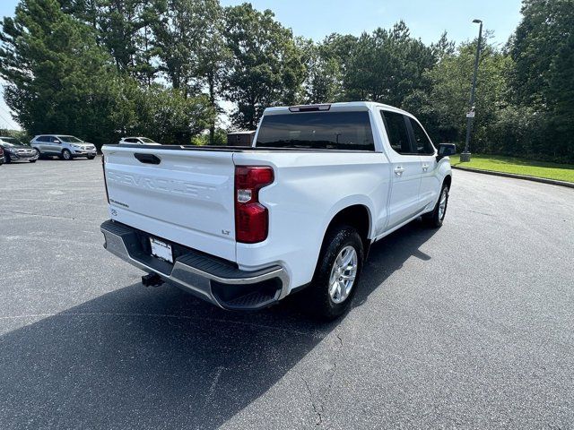
[[[348,226],[332,228],[308,288],[309,311],[326,320],[344,314],[357,290],[362,262],[363,246],[357,230]]]

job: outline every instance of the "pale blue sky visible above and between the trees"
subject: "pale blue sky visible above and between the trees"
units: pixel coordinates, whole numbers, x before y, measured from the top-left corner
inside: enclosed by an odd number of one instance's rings
[[[244,0],[220,0],[223,6]],[[520,21],[520,0],[251,0],[256,9],[271,9],[277,21],[290,27],[296,36],[322,40],[337,32],[358,36],[378,27],[390,28],[403,20],[411,35],[426,44],[437,41],[443,31],[448,39],[474,39],[477,25],[494,31],[494,43],[503,45]],[[0,16],[13,15],[18,0],[0,0]],[[0,100],[0,128],[17,125]]]

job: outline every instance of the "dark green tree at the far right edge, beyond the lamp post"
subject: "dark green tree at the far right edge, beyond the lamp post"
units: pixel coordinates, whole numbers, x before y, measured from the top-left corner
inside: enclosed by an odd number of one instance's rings
[[[547,118],[545,149],[574,160],[574,0],[525,0],[509,42],[513,100]]]

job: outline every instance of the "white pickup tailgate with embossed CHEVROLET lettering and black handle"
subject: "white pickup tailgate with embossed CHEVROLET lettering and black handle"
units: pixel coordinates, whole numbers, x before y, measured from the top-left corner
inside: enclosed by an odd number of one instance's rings
[[[235,262],[231,151],[102,151],[111,219]]]

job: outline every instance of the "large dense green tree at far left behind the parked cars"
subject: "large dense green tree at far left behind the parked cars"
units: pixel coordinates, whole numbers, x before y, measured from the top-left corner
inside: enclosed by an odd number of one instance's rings
[[[57,0],[22,0],[0,33],[4,98],[30,134],[71,133],[101,144],[113,136],[121,80],[91,27]]]

